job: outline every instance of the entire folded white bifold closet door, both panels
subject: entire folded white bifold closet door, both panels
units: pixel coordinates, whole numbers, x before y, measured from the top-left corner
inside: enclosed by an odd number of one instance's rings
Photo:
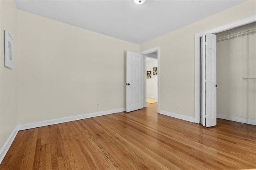
[[[202,125],[212,127],[217,125],[216,101],[216,35],[207,33],[201,39],[202,57]]]

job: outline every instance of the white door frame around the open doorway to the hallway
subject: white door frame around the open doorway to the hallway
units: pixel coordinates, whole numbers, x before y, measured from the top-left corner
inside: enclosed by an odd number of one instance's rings
[[[147,49],[145,51],[140,52],[140,54],[142,54],[143,56],[143,65],[144,67],[144,71],[142,71],[142,77],[144,78],[144,81],[146,82],[147,78],[145,76],[146,74],[146,57],[144,55],[149,54],[149,53],[153,53],[157,51],[157,113],[160,112],[160,47],[154,47],[151,49]],[[146,83],[143,83],[142,85],[142,89],[146,89]],[[143,96],[143,90],[142,90],[142,96]],[[144,94],[144,103],[145,105],[143,105],[143,107],[146,107],[146,99],[147,99],[147,93]]]

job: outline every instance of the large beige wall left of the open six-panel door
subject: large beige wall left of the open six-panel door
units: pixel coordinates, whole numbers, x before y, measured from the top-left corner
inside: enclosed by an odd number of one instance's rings
[[[20,10],[18,41],[19,125],[126,107],[125,53],[139,45]]]

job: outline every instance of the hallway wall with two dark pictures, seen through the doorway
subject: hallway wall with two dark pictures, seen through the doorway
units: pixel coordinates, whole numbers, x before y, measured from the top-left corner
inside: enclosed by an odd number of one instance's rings
[[[157,60],[147,62],[147,71],[151,71],[151,79],[147,79],[147,97],[157,99],[157,75],[153,74],[153,67],[157,67]]]

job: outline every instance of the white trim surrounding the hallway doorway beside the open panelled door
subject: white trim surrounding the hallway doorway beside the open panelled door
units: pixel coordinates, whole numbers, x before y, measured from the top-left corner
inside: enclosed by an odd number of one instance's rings
[[[154,48],[151,48],[151,49],[147,49],[145,51],[142,51],[140,52],[142,55],[146,55],[146,54],[149,54],[149,53],[153,53],[153,52],[156,52],[157,51],[157,112],[159,113],[160,112],[160,47],[154,47]],[[146,64],[146,57],[144,57],[144,64]],[[146,67],[146,66],[145,66]],[[146,68],[145,68],[145,72],[146,73]],[[146,79],[146,77],[145,77]],[[146,88],[146,85],[144,85],[144,88]],[[143,92],[142,92],[143,94]],[[145,102],[145,105],[146,105],[146,95],[144,96],[144,102]],[[144,105],[144,107],[146,107]]]

